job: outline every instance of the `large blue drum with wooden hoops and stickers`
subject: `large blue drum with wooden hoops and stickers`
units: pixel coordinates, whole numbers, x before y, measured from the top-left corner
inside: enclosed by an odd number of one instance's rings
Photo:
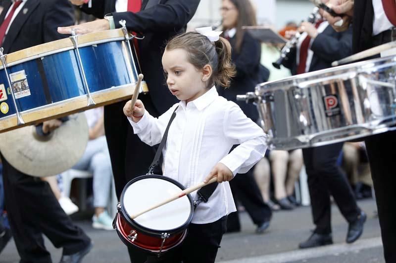
[[[130,98],[138,80],[122,29],[33,46],[4,64],[0,132]]]

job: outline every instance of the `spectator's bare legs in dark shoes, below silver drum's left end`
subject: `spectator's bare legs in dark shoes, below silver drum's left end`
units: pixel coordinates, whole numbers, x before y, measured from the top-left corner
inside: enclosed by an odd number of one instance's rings
[[[269,160],[275,200],[282,209],[291,210],[299,205],[294,197],[294,187],[303,165],[302,150],[271,150]]]

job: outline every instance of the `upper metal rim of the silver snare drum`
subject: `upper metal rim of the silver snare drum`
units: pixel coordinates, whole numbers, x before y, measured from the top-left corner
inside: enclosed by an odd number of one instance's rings
[[[370,59],[370,60],[365,60],[365,61],[359,61],[359,62],[347,64],[347,65],[341,65],[341,66],[327,68],[327,69],[323,69],[323,70],[317,70],[317,71],[308,72],[308,73],[304,73],[304,74],[289,76],[289,77],[285,77],[285,78],[278,79],[278,80],[267,81],[267,82],[257,84],[255,86],[255,90],[260,91],[261,89],[265,89],[265,91],[271,91],[271,90],[285,89],[286,86],[290,86],[291,83],[288,83],[289,81],[290,82],[309,81],[312,78],[320,77],[320,75],[324,74],[324,73],[338,72],[338,74],[336,74],[336,75],[342,75],[342,74],[347,74],[347,73],[349,73],[350,75],[358,74],[358,73],[367,71],[367,69],[363,68],[362,66],[374,64],[370,68],[375,68],[375,67],[379,66],[378,63],[380,63],[380,62],[382,62],[381,64],[396,63],[396,55],[382,57],[382,58],[375,58],[375,59]],[[352,69],[355,69],[355,71],[354,72],[351,71]],[[295,86],[295,85],[293,84],[293,86]]]

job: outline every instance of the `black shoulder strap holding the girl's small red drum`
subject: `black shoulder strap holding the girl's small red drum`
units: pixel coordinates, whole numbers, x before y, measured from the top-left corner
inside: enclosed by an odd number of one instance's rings
[[[176,110],[177,110],[178,108],[179,108],[179,106],[176,107],[176,109],[175,109],[175,110],[173,111],[173,113],[172,113],[172,116],[171,116],[170,119],[169,119],[168,125],[166,126],[166,129],[165,129],[164,135],[162,136],[162,139],[161,139],[161,142],[160,142],[160,144],[159,144],[159,147],[158,147],[157,151],[155,152],[154,159],[153,159],[153,161],[151,162],[150,167],[148,168],[148,173],[147,173],[147,174],[153,174],[153,171],[154,171],[155,167],[156,167],[156,166],[158,165],[158,163],[159,163],[159,158],[160,158],[161,155],[162,155],[162,149],[164,148],[165,143],[166,143],[166,139],[168,138],[168,132],[169,132],[170,124],[171,124],[172,121],[175,119],[175,117],[176,117]],[[202,202],[202,201],[206,203],[207,200],[209,200],[209,197],[210,197],[210,196],[212,195],[212,193],[214,192],[214,190],[216,190],[218,184],[219,184],[219,183],[214,182],[214,183],[212,183],[212,184],[209,184],[209,185],[206,185],[206,186],[200,188],[200,189],[198,190],[198,196],[199,196],[199,197],[198,197],[198,200],[196,200],[196,201],[194,202],[194,206],[197,207],[198,204],[199,204],[200,202]]]

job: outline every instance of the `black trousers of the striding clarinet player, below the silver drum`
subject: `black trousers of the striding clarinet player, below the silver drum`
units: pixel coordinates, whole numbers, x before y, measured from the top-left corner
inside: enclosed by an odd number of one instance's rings
[[[345,174],[337,166],[337,158],[344,143],[302,150],[308,177],[309,195],[315,232],[331,233],[330,194],[347,222],[354,222],[360,209]]]

